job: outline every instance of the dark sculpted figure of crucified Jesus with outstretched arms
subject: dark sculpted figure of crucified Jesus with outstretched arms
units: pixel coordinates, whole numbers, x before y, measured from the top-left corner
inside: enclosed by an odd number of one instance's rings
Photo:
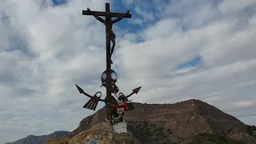
[[[89,7],[87,8],[87,11],[88,11],[90,14],[93,14],[94,17],[95,17],[99,22],[102,22],[105,26],[107,25],[107,24],[106,24],[106,21],[105,21],[103,18],[99,17],[98,15],[92,13],[92,12],[90,11],[90,8],[89,8]],[[111,60],[111,57],[112,57],[112,54],[113,54],[113,52],[114,52],[114,46],[115,46],[115,34],[114,34],[113,30],[112,30],[112,26],[113,26],[113,24],[114,24],[115,22],[121,21],[122,18],[126,17],[127,14],[130,14],[130,10],[128,10],[126,14],[123,14],[122,16],[120,16],[120,17],[114,19],[113,21],[110,21],[110,23],[109,23],[109,25],[110,25],[110,33],[107,35],[107,37],[109,37],[109,38],[110,38],[110,41],[112,42],[112,48],[111,48],[111,52],[110,52],[110,62],[111,62],[111,64],[113,64],[113,62],[112,62],[112,60]]]

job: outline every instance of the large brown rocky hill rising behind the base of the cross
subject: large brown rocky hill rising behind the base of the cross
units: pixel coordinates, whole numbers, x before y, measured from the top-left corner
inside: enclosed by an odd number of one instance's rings
[[[255,144],[254,126],[247,126],[237,118],[199,100],[175,104],[134,103],[135,110],[127,111],[128,131],[143,143],[248,143]],[[82,119],[69,138],[104,122],[104,108]],[[209,139],[210,138],[210,139]],[[51,138],[54,140],[54,138]],[[56,140],[56,138],[55,138]],[[238,140],[238,141],[236,141]],[[57,142],[57,141],[54,141]]]

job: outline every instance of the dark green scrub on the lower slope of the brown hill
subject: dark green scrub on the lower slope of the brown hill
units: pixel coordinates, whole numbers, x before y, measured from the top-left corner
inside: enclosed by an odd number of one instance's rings
[[[178,142],[172,142],[171,137],[165,134],[161,125],[151,122],[128,122],[127,127],[134,137],[143,144],[245,144],[242,141],[230,139],[225,136],[207,133],[198,134],[188,139],[176,137],[175,139]],[[171,130],[167,129],[167,132],[170,134]]]

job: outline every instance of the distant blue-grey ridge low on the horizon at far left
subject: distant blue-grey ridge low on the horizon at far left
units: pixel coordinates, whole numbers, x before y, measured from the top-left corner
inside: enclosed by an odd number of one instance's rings
[[[16,142],[8,142],[6,144],[44,144],[49,138],[69,136],[69,131],[55,131],[53,134],[34,136],[29,135],[26,138],[19,139]]]

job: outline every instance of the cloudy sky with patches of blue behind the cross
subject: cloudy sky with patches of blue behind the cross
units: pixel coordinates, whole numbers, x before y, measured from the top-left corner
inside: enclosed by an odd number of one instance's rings
[[[114,26],[114,70],[133,102],[191,98],[256,125],[254,0],[0,1],[0,143],[74,130],[105,94],[105,27],[82,10],[126,13]],[[103,96],[104,98],[104,96]],[[99,104],[100,109],[103,104]]]

